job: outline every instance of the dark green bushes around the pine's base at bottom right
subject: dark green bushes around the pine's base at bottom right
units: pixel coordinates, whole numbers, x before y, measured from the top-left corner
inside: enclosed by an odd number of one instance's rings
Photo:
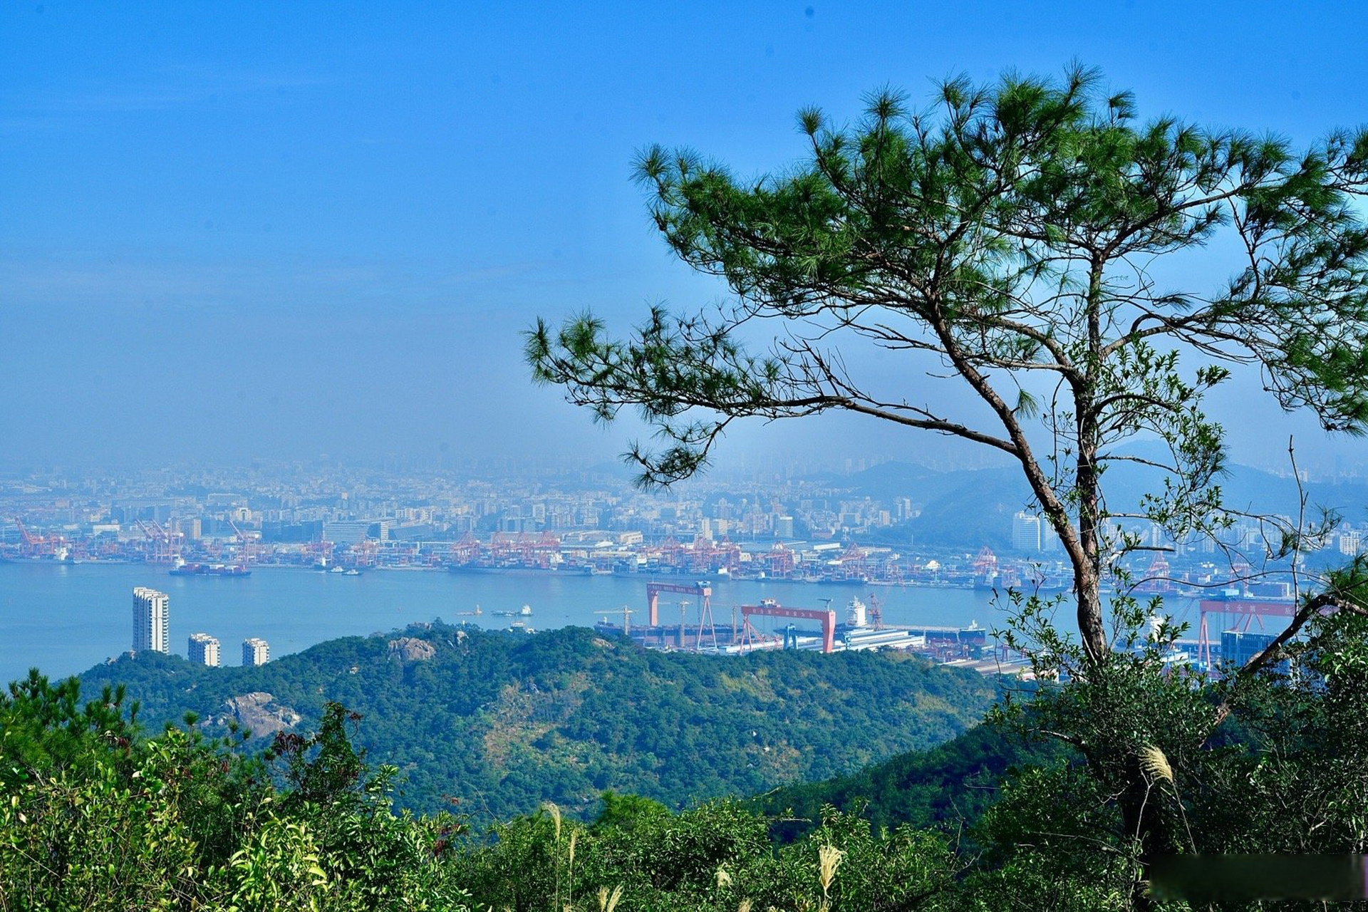
[[[1149,908],[1144,879],[1168,853],[1360,853],[1368,801],[1368,617],[1361,567],[1308,596],[1304,636],[1261,670],[1222,681],[1166,665],[1179,629],[1149,629],[1157,604],[1119,598],[1118,648],[1092,660],[1018,599],[1011,637],[1059,684],[1008,699],[997,725],[1059,738],[1070,756],[1010,777],[973,829],[982,863],[970,890],[1015,889],[1011,908],[1042,908],[1067,886],[1073,905]],[[1317,613],[1335,599],[1338,611]],[[1145,633],[1142,633],[1145,632]],[[1008,907],[1004,907],[1008,908]]]

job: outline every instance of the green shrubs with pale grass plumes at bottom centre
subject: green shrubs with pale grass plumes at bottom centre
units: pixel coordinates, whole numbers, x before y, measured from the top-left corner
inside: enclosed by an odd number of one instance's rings
[[[680,912],[956,908],[962,867],[937,834],[874,833],[833,808],[807,838],[773,850],[765,819],[729,801],[592,827],[549,807],[491,837],[456,860],[462,885],[480,902],[528,912],[594,908],[588,897],[602,908],[614,893],[624,909]]]

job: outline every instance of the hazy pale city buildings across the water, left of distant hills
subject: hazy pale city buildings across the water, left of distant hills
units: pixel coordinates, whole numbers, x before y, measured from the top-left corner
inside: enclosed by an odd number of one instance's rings
[[[856,498],[836,481],[778,472],[700,480],[670,492],[642,492],[627,476],[592,470],[451,477],[323,465],[52,473],[0,477],[0,556],[161,562],[170,552],[216,559],[319,540],[587,531],[637,532],[647,540],[840,540],[888,529],[917,510],[911,498]]]

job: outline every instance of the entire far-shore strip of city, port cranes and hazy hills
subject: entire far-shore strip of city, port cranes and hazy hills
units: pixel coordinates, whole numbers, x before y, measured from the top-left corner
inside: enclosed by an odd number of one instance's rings
[[[624,473],[592,468],[397,472],[324,461],[0,474],[0,559],[148,562],[223,577],[278,565],[1067,585],[1066,555],[1042,517],[1004,510],[986,524],[958,514],[929,524],[915,499],[936,496],[928,477],[889,469],[855,483],[767,468],[643,492]],[[1231,550],[1261,555],[1278,539],[1268,521],[1192,543],[1126,522],[1118,533],[1161,548],[1163,569],[1193,585]],[[1342,524],[1324,544],[1324,562],[1358,554],[1368,522]],[[1000,556],[975,556],[986,547]],[[1133,570],[1144,578],[1149,567]]]

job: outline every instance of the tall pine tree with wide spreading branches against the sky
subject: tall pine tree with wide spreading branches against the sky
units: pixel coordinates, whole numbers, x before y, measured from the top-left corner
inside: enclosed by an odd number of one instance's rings
[[[881,92],[851,127],[817,109],[799,124],[803,161],[754,180],[688,150],[636,161],[657,228],[725,279],[728,305],[655,308],[625,339],[592,314],[527,334],[539,381],[601,420],[635,407],[654,427],[663,447],[631,451],[644,484],[696,472],[744,417],[845,410],[996,448],[1060,537],[1096,662],[1111,647],[1103,584],[1140,547],[1108,520],[1178,540],[1228,522],[1202,395],[1234,365],[1280,406],[1364,431],[1368,133],[1294,150],[1140,122],[1129,93],[1081,67],[953,79],[925,108]],[[747,345],[761,332],[767,347]],[[869,346],[928,381],[880,390]],[[979,407],[956,412],[944,384]],[[1135,455],[1135,438],[1167,455]],[[1109,505],[1103,473],[1119,459],[1161,472],[1159,489]]]

